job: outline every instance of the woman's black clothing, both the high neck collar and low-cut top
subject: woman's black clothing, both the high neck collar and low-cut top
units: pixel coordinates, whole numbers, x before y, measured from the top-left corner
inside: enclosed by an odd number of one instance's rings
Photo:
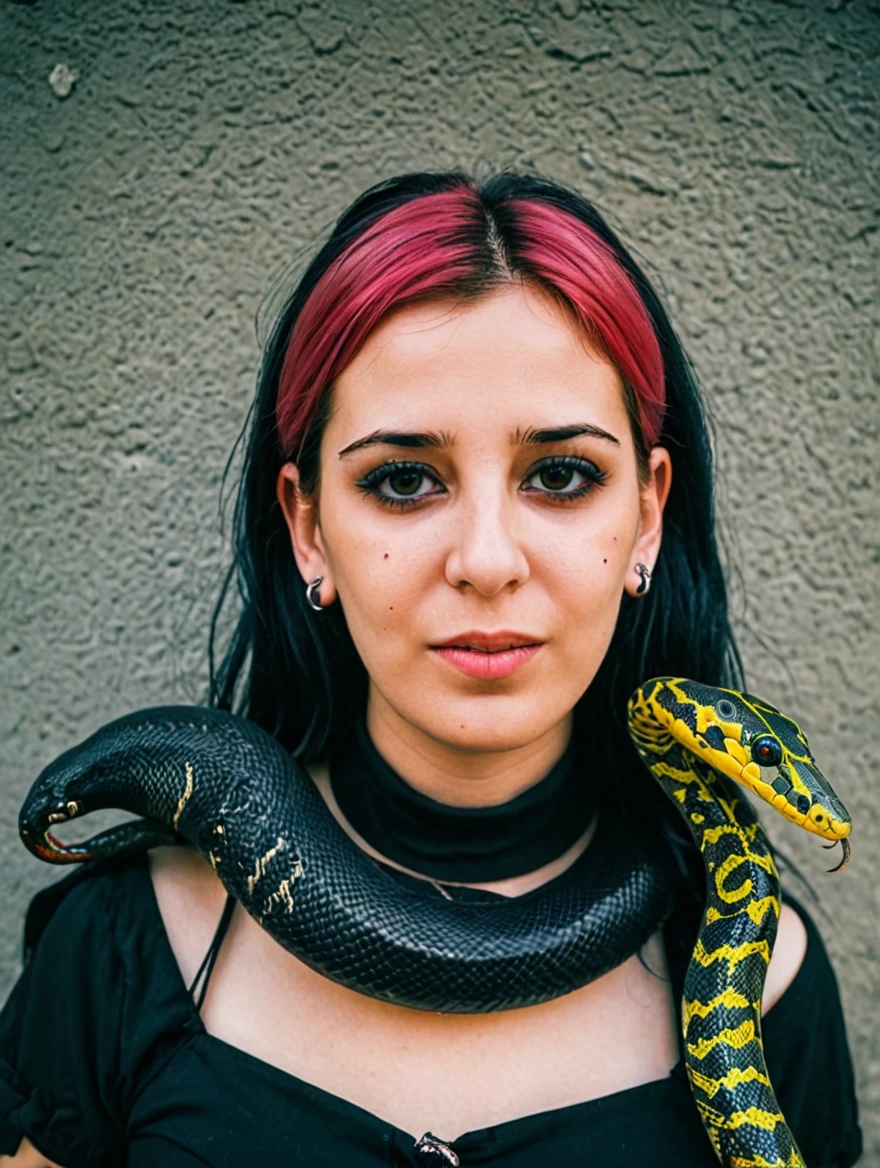
[[[362,725],[352,743],[331,765],[345,814],[388,858],[406,857],[416,870],[430,867],[439,880],[465,871],[480,881],[500,878],[488,871],[515,874],[525,862],[518,860],[520,847],[535,867],[566,850],[593,814],[576,743],[510,805],[464,813],[450,813],[403,784]],[[492,856],[488,865],[480,860],[483,846]],[[428,897],[496,895],[386,868]],[[808,947],[790,987],[764,1016],[767,1063],[810,1168],[850,1168],[861,1135],[837,982],[811,918],[787,901],[804,919]],[[0,1155],[13,1154],[28,1136],[63,1168],[718,1168],[681,1059],[664,1079],[445,1143],[438,1132],[439,1145],[432,1145],[423,1132],[401,1131],[213,1037],[199,1006],[233,905],[187,986],[146,854],[78,870],[35,897],[26,925],[29,958],[0,1014]],[[692,943],[695,927],[685,913],[667,929],[677,1000],[686,959],[674,954],[686,947],[672,943],[679,934]],[[279,1008],[296,1010],[297,1003]]]

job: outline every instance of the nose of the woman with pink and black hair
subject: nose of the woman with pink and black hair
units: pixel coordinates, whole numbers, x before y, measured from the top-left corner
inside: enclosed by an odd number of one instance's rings
[[[446,556],[446,579],[452,588],[470,585],[481,596],[493,597],[526,583],[528,557],[514,509],[500,492],[462,500],[452,516],[453,536]]]

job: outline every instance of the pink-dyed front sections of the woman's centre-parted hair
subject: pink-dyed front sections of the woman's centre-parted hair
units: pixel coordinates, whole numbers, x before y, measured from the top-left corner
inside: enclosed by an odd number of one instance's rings
[[[646,445],[665,409],[663,359],[647,311],[611,246],[550,203],[514,199],[515,257],[473,187],[422,195],[387,211],[320,277],[293,326],[276,422],[286,457],[302,449],[321,394],[380,320],[416,298],[474,297],[529,277],[574,312],[637,403]],[[298,454],[297,454],[298,457]]]

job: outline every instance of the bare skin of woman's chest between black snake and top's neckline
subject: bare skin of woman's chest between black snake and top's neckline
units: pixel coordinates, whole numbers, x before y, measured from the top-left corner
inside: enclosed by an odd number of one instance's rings
[[[243,912],[202,1007],[209,1034],[403,1131],[446,1139],[661,1079],[678,1061],[660,936],[553,1002],[441,1015],[327,981]]]

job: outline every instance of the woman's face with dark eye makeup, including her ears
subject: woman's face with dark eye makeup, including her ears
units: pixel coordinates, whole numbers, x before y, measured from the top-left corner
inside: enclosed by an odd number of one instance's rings
[[[303,579],[342,605],[374,741],[561,749],[636,564],[654,564],[668,489],[659,447],[639,481],[616,370],[512,285],[396,310],[332,404],[318,499],[292,464],[279,499]]]

